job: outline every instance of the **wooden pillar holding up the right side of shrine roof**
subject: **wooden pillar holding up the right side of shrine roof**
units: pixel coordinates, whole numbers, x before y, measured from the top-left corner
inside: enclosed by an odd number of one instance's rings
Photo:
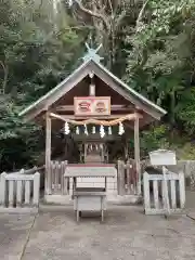
[[[136,167],[136,191],[141,195],[141,167],[140,167],[140,127],[139,117],[134,120],[134,160]]]

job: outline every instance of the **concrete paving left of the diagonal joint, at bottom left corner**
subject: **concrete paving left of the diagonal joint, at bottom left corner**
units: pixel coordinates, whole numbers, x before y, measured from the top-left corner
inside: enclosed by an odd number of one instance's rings
[[[0,213],[0,259],[20,260],[35,217]]]

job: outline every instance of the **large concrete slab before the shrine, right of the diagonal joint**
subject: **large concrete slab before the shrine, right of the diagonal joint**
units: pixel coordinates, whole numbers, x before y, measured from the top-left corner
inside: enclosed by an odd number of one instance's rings
[[[42,210],[23,260],[193,260],[195,222],[185,216],[144,216],[139,207],[109,208],[75,221],[72,207]]]

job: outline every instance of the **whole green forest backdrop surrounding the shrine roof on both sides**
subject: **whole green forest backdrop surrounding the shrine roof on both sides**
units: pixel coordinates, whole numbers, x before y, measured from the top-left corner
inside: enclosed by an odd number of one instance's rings
[[[103,43],[104,63],[168,112],[162,125],[143,132],[144,154],[182,151],[194,136],[195,0],[80,2],[58,1],[54,10],[52,0],[0,1],[0,171],[40,157],[42,129],[18,112],[78,66],[89,30]],[[186,146],[193,158],[194,145]]]

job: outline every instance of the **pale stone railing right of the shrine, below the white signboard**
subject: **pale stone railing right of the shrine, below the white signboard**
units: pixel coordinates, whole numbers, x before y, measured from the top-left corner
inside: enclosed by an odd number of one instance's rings
[[[185,206],[184,174],[167,171],[166,183],[162,174],[144,172],[144,208],[146,214],[181,212]],[[152,188],[151,188],[152,187]]]

